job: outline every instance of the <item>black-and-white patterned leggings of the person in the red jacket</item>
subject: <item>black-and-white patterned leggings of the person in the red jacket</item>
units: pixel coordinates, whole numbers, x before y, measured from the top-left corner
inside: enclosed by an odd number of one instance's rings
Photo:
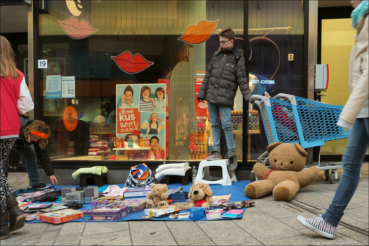
[[[11,148],[13,147],[14,143],[15,143],[15,138],[12,139],[1,139],[0,141],[1,146],[0,146],[0,150],[1,150],[1,166],[0,166],[0,172],[1,172],[1,177],[0,177],[0,209],[1,212],[5,212],[7,211],[6,209],[6,196],[11,194],[11,188],[10,185],[8,183],[8,180],[6,179],[4,173],[3,173],[3,162],[6,161],[6,157],[9,154]]]

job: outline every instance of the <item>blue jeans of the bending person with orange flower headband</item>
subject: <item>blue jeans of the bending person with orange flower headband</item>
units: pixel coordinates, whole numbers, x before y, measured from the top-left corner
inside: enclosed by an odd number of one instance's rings
[[[30,179],[31,186],[37,186],[39,183],[41,183],[37,167],[36,152],[31,145],[26,145],[23,148],[17,148],[14,145],[13,150],[24,158],[25,169],[27,170],[28,179]]]

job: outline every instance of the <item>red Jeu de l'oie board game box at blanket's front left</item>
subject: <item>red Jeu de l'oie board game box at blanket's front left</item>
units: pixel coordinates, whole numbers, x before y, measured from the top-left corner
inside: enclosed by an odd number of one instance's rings
[[[57,211],[52,211],[44,214],[37,214],[38,221],[45,221],[52,224],[60,224],[74,219],[83,218],[83,211],[65,208]]]

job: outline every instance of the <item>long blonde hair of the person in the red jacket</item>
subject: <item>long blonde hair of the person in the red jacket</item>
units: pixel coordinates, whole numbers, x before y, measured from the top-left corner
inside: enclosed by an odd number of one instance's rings
[[[1,37],[1,61],[0,61],[0,75],[3,78],[8,78],[10,76],[13,77],[13,79],[17,79],[19,75],[17,66],[15,63],[15,53],[13,48],[11,48],[11,44],[4,36]]]

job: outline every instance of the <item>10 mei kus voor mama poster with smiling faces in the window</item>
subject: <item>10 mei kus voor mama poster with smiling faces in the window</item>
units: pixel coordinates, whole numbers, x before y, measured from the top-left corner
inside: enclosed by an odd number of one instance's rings
[[[116,95],[117,136],[124,139],[117,155],[135,160],[144,152],[147,159],[165,160],[166,84],[117,84]]]

